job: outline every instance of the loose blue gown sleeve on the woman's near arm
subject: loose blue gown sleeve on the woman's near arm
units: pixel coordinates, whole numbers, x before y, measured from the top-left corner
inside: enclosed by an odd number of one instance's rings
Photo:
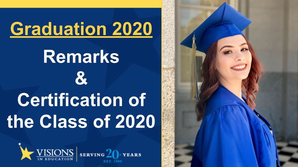
[[[204,119],[191,167],[258,167],[250,124],[242,106],[222,106]]]

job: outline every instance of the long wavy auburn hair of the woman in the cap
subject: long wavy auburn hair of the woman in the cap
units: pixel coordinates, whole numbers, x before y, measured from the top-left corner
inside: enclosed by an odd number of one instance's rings
[[[242,35],[243,36],[243,35]],[[255,109],[255,93],[259,91],[259,82],[263,66],[255,56],[254,49],[243,36],[251,52],[251,69],[246,79],[242,80],[242,93],[246,96],[249,107]],[[200,86],[199,100],[196,102],[197,121],[201,121],[204,117],[206,103],[212,93],[219,87],[217,71],[215,70],[215,56],[217,50],[217,42],[215,41],[207,50],[204,62],[202,64],[201,77],[203,81]],[[264,72],[264,71],[262,71]]]

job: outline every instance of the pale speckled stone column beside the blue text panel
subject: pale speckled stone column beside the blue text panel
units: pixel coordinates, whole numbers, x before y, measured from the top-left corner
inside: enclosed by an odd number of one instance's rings
[[[174,166],[175,1],[162,1],[162,166]]]

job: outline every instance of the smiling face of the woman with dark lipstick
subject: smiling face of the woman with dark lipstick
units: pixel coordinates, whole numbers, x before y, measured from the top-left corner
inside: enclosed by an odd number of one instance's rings
[[[242,35],[222,38],[217,43],[215,68],[227,82],[246,79],[251,69],[251,52]]]

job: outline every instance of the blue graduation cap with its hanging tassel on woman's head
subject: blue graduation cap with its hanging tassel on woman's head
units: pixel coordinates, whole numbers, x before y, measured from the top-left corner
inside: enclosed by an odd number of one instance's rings
[[[242,31],[251,23],[244,15],[224,2],[180,44],[192,48],[192,98],[198,99],[195,50],[207,53],[213,42]]]

